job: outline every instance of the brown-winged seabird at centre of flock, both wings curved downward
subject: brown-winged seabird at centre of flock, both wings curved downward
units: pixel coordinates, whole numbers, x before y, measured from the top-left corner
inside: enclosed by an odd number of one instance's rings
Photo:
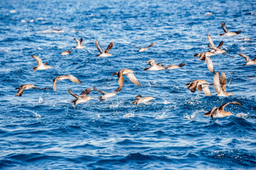
[[[132,81],[132,83],[136,84],[137,86],[142,86],[139,84],[138,79],[134,76],[134,71],[132,71],[132,69],[121,69],[118,72],[112,74],[112,76],[117,75],[118,77],[118,84],[119,86],[123,87],[124,86],[124,75],[126,75],[130,81]]]

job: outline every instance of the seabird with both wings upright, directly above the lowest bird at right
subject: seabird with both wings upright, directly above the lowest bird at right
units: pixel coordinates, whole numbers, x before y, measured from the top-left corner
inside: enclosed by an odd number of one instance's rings
[[[220,77],[220,79],[219,79]],[[225,76],[225,73],[223,72],[221,74],[221,76],[219,75],[219,72],[217,72],[215,74],[215,76],[213,77],[213,84],[214,84],[214,89],[217,92],[217,96],[223,96],[223,97],[227,97],[227,96],[231,96],[234,95],[231,92],[226,92],[226,85],[227,85],[227,78]]]

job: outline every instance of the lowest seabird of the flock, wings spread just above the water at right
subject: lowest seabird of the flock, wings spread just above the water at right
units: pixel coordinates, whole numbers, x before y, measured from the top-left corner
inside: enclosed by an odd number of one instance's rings
[[[213,119],[213,118],[224,118],[228,115],[233,115],[230,112],[224,111],[225,106],[227,106],[228,104],[235,104],[235,105],[240,105],[240,106],[242,105],[242,103],[239,103],[237,101],[228,102],[228,103],[223,104],[220,107],[213,108],[208,113],[205,113],[204,116],[210,116],[210,118]]]

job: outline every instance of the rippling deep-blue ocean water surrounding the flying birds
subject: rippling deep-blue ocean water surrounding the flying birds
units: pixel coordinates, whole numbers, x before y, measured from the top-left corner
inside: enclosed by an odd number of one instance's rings
[[[255,1],[6,1],[0,2],[0,169],[255,169],[255,66],[242,66],[245,53],[255,57]],[[207,16],[205,13],[213,13]],[[221,23],[233,37],[220,37]],[[61,29],[60,32],[53,30]],[[185,89],[189,81],[213,75],[193,57],[223,40],[225,55],[211,57],[225,72],[227,98]],[[83,38],[75,49],[73,38]],[[252,38],[249,41],[239,38]],[[95,57],[114,41],[112,57]],[[132,45],[146,47],[138,53]],[[70,55],[60,55],[72,50]],[[41,57],[53,69],[33,72]],[[144,72],[147,60],[181,69]],[[119,86],[111,74],[132,69],[142,87],[124,77],[124,88],[108,101],[95,98],[74,107],[75,94],[96,86]],[[53,79],[73,74],[82,81]],[[35,84],[15,96],[15,88]],[[215,94],[213,86],[210,87]],[[137,95],[153,102],[134,106]],[[230,101],[236,116],[212,121],[204,113]]]

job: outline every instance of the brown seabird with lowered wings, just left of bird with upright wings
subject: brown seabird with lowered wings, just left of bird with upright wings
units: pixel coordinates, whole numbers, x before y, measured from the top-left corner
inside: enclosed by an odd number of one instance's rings
[[[210,90],[208,88],[208,86],[211,85],[213,84],[209,84],[206,80],[198,79],[186,84],[186,88],[188,88],[192,93],[195,93],[196,89],[198,89],[198,91],[203,90],[203,93],[206,94],[206,96],[211,96]]]

